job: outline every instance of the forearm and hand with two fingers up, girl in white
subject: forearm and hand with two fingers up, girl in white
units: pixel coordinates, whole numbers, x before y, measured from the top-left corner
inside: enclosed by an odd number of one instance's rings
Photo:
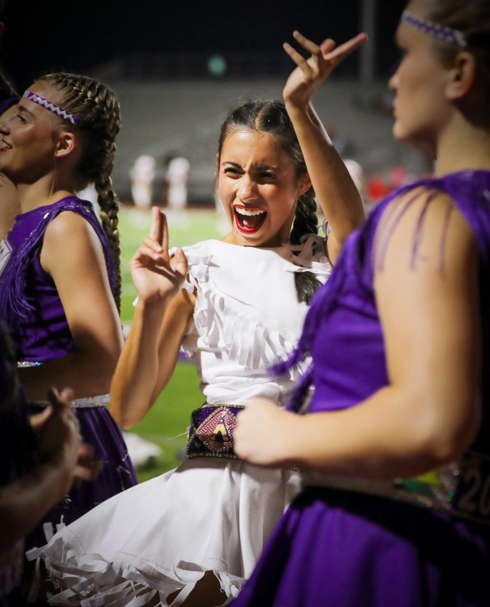
[[[195,304],[180,288],[185,256],[177,251],[169,258],[165,215],[156,207],[130,267],[138,303],[111,385],[111,413],[123,428],[143,419],[171,378]]]

